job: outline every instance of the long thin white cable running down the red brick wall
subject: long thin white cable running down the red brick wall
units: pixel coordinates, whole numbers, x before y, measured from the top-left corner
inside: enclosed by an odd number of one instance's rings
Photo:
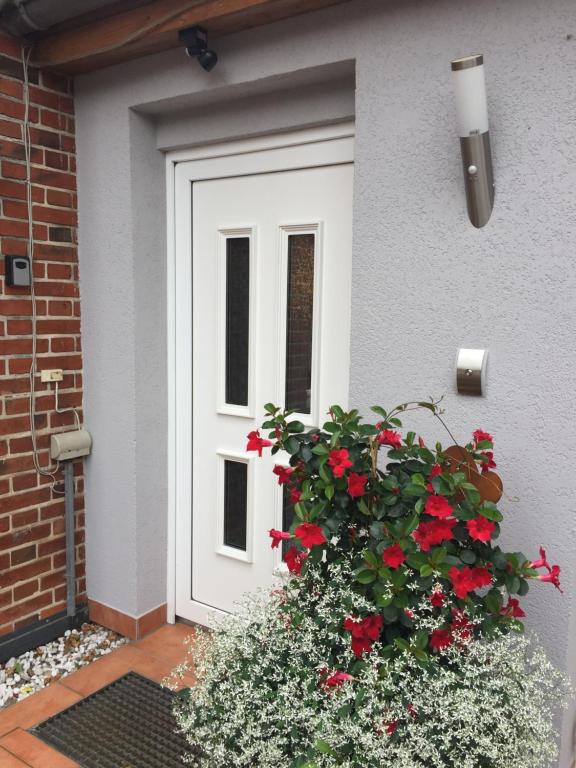
[[[30,401],[28,413],[30,416],[30,437],[32,439],[32,458],[34,468],[39,475],[52,478],[52,492],[62,493],[55,486],[58,480],[56,473],[60,469],[60,463],[55,466],[42,467],[38,455],[38,441],[36,436],[36,356],[37,356],[37,312],[36,291],[34,288],[34,220],[32,215],[32,167],[31,167],[31,140],[30,140],[30,90],[28,80],[28,65],[32,49],[22,48],[22,69],[24,71],[24,124],[23,142],[24,157],[26,159],[26,203],[28,206],[28,258],[30,259],[30,299],[32,301],[32,358],[30,362]]]

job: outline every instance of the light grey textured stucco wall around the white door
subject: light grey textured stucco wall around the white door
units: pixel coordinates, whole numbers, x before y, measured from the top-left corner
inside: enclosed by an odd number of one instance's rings
[[[572,667],[576,278],[573,0],[354,0],[78,78],[90,596],[166,599],[165,189],[158,151],[356,115],[351,402],[445,395],[465,440],[496,437],[507,539],[543,543],[564,596],[529,623]],[[451,58],[486,57],[497,198],[469,225]],[[356,93],[354,104],[353,72]],[[488,395],[455,393],[460,346],[490,350]],[[445,439],[425,417],[411,426]],[[537,585],[538,586],[538,585]],[[571,717],[571,716],[570,716]],[[563,768],[568,763],[568,730]]]

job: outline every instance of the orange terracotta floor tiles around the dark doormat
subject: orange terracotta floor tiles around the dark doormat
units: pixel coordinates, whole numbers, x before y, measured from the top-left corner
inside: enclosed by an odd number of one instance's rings
[[[78,768],[77,763],[27,733],[27,729],[127,672],[139,672],[161,682],[184,661],[185,641],[192,632],[185,624],[167,624],[0,712],[0,768]],[[180,685],[192,682],[187,676]]]

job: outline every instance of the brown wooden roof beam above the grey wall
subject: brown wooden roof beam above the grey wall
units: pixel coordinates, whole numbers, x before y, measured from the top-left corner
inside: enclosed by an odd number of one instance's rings
[[[34,46],[36,66],[79,74],[177,48],[178,32],[200,24],[224,35],[315,11],[346,0],[151,0],[126,10],[106,6],[84,24],[52,29]],[[118,11],[117,6],[123,8]],[[113,14],[106,15],[104,13]],[[215,46],[217,48],[217,46]]]

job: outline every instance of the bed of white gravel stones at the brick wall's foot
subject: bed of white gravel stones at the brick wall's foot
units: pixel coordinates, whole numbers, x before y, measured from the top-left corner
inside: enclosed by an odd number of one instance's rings
[[[0,664],[0,708],[25,699],[128,642],[126,637],[98,624],[83,624],[51,643]]]

